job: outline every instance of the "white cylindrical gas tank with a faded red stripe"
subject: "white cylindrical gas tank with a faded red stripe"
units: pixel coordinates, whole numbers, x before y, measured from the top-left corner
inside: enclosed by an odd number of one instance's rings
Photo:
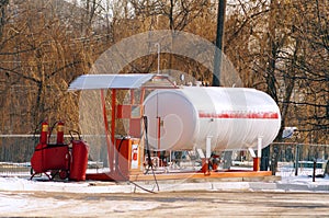
[[[270,145],[281,115],[264,92],[245,88],[183,87],[156,90],[145,100],[148,141],[156,150],[237,150]]]

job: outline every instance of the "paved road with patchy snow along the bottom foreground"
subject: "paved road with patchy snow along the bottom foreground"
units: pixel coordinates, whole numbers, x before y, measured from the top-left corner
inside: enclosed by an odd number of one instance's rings
[[[0,192],[1,217],[329,217],[328,193]]]

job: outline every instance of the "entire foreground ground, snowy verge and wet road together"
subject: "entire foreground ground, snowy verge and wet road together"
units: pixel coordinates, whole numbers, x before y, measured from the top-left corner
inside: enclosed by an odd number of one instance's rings
[[[0,177],[0,217],[327,217],[329,177],[311,181],[161,183],[152,195],[127,183]]]

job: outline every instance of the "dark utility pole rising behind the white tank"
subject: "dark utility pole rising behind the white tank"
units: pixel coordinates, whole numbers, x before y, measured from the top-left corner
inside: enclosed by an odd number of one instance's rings
[[[226,11],[226,0],[218,0],[217,32],[216,32],[216,47],[217,48],[215,50],[215,57],[214,57],[213,87],[220,85],[224,23],[225,23],[225,14],[226,14],[225,11]]]

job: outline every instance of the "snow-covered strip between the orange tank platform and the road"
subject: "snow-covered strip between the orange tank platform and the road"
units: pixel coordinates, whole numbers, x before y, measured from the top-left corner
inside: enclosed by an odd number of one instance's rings
[[[231,181],[212,181],[212,182],[161,182],[159,183],[160,192],[179,192],[179,191],[228,191],[228,190],[272,190],[272,191],[309,191],[309,192],[329,192],[329,176],[313,177],[308,174],[295,176],[293,172],[281,172],[280,180],[273,182],[242,182]],[[155,182],[139,182],[140,186],[155,191]],[[56,192],[56,193],[143,193],[132,183],[114,182],[58,182],[47,181],[46,177],[36,177],[32,181],[22,177],[0,177],[0,192]]]

